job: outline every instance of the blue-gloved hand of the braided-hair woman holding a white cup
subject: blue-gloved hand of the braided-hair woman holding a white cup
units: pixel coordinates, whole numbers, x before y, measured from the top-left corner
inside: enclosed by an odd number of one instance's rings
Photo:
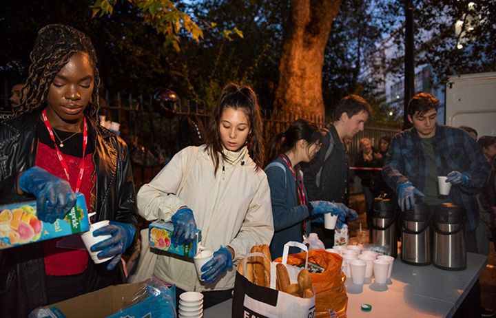
[[[101,251],[97,254],[99,259],[112,257],[107,265],[107,270],[112,271],[116,264],[121,261],[122,253],[132,244],[135,232],[136,230],[131,224],[110,221],[109,225],[94,231],[93,236],[112,235],[112,237],[94,244],[90,251]]]

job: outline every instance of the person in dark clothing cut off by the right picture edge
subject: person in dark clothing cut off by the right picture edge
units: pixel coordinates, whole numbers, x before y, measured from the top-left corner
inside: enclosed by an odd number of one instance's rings
[[[486,183],[484,183],[479,200],[482,222],[480,222],[479,227],[477,227],[477,242],[481,242],[481,244],[479,244],[479,253],[488,255],[490,251],[488,240],[489,233],[491,233],[493,237],[496,248],[496,167],[494,161],[496,158],[496,137],[482,136],[477,140],[477,143],[482,147],[482,151],[491,165],[489,177],[487,178]]]

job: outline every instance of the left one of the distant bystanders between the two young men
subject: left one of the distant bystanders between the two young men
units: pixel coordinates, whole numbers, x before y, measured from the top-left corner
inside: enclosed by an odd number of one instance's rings
[[[358,168],[375,168],[379,167],[378,160],[375,159],[375,149],[371,145],[371,140],[369,138],[362,138],[360,139],[360,145],[362,147],[362,150],[357,153],[357,156],[355,158],[355,167]],[[369,211],[372,200],[374,198],[373,192],[372,192],[372,182],[373,178],[375,177],[375,171],[370,171],[370,170],[356,170],[355,171],[356,175],[360,177],[360,180],[362,180],[362,189],[365,195],[365,210]]]

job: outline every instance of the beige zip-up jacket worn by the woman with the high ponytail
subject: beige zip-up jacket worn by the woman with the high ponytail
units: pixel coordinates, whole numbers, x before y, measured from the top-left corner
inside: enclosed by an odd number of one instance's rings
[[[233,288],[239,260],[251,246],[270,244],[272,239],[272,207],[265,172],[255,169],[247,147],[224,153],[229,160],[220,159],[214,176],[214,162],[205,146],[187,147],[138,191],[139,213],[146,220],[170,221],[180,206],[187,205],[202,230],[205,248],[217,251],[220,246],[230,246],[236,253],[234,268],[214,285],[200,283],[192,259],[188,262],[159,255],[154,275],[183,290]],[[196,160],[193,166],[188,166],[190,160]],[[192,167],[189,176],[180,193],[176,193],[187,167]]]

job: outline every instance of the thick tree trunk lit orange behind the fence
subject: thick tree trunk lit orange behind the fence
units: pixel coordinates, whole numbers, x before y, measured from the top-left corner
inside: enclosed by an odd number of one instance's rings
[[[340,0],[293,0],[282,46],[274,114],[324,116],[322,65]]]

